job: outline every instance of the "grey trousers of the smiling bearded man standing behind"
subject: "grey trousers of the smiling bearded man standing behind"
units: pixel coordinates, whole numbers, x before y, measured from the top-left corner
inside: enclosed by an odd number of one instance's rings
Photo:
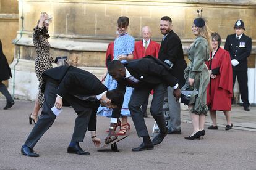
[[[181,130],[181,103],[176,102],[176,98],[173,95],[173,88],[167,88],[169,116],[170,120],[167,123],[169,131]]]

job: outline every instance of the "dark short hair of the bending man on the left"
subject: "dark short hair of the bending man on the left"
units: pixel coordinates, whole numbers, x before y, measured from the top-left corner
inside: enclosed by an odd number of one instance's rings
[[[111,105],[116,105],[117,107],[122,107],[122,102],[124,100],[124,92],[113,89],[106,92],[106,97],[111,100]]]

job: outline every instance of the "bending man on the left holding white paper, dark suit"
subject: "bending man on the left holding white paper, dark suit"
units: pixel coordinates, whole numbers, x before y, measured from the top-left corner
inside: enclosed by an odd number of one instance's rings
[[[96,137],[96,111],[99,105],[108,108],[122,105],[121,92],[108,91],[95,75],[72,66],[60,66],[43,72],[42,91],[45,92],[43,110],[22,146],[21,152],[25,156],[39,156],[33,147],[56,119],[56,114],[51,108],[61,109],[63,103],[74,108],[78,116],[75,119],[74,133],[67,153],[89,155],[89,152],[80,148],[79,142],[83,142],[88,127],[92,141],[96,146],[100,145],[100,139]]]

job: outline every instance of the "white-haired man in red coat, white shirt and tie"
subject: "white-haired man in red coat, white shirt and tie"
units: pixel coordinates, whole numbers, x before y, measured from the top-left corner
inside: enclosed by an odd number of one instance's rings
[[[134,46],[134,59],[140,59],[147,55],[158,58],[158,51],[160,49],[160,44],[151,40],[151,30],[148,26],[142,28],[143,39],[141,41],[135,42]],[[142,111],[144,117],[147,117],[147,106],[148,100],[142,105]]]

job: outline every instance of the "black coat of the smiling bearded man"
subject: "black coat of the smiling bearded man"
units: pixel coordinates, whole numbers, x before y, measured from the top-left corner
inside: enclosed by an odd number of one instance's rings
[[[187,63],[184,60],[181,39],[173,30],[169,31],[164,41],[161,42],[158,59],[162,62],[167,59],[173,63],[173,75],[178,79],[179,87],[184,86],[184,69],[187,67]]]

